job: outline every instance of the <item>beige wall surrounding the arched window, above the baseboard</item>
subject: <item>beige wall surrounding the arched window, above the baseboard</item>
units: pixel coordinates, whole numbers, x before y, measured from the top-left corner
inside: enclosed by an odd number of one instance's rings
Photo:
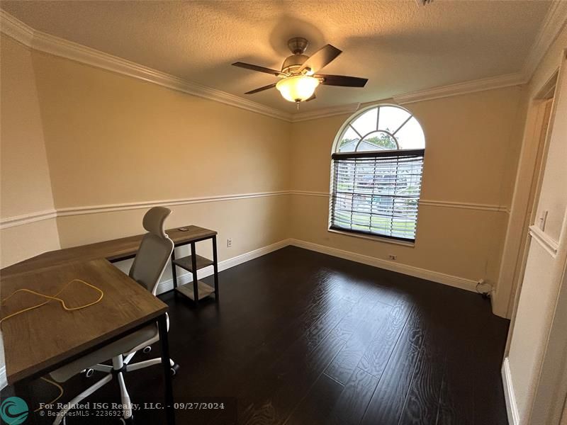
[[[315,244],[388,259],[459,278],[495,283],[507,212],[462,204],[509,207],[523,119],[520,87],[482,91],[406,105],[425,132],[422,200],[458,208],[420,205],[415,246],[327,231],[328,197],[293,195],[291,236]],[[294,123],[291,188],[328,193],[330,154],[348,115]]]

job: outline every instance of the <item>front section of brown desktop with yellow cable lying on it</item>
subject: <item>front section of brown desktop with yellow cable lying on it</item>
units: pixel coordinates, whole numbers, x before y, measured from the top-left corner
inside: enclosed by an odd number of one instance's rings
[[[28,288],[53,295],[73,279],[82,279],[103,290],[100,302],[82,310],[65,311],[60,302],[6,319],[4,336],[6,375],[9,383],[54,368],[73,356],[159,317],[167,305],[148,293],[105,259],[71,261],[50,268],[2,277],[2,296]],[[60,297],[68,307],[85,305],[99,293],[82,283],[72,283]],[[36,305],[43,298],[18,293],[2,307],[2,317]]]

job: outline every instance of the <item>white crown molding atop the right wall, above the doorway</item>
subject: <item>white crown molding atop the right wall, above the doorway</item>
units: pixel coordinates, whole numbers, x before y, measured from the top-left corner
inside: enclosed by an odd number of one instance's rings
[[[529,50],[522,74],[527,81],[532,78],[539,62],[543,59],[549,46],[555,41],[567,23],[567,1],[554,1],[549,6],[544,23],[541,25],[537,38]]]

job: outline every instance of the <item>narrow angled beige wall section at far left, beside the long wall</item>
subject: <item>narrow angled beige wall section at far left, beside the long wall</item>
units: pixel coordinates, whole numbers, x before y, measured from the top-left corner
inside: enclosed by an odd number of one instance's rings
[[[4,35],[0,49],[0,217],[49,212],[53,198],[32,52]],[[0,266],[59,247],[55,219],[3,227]]]

